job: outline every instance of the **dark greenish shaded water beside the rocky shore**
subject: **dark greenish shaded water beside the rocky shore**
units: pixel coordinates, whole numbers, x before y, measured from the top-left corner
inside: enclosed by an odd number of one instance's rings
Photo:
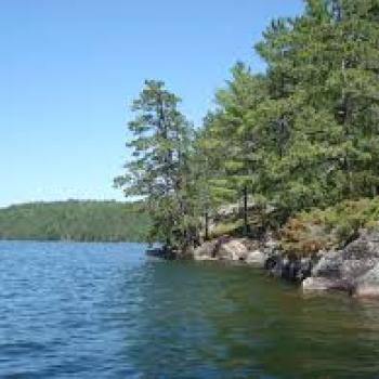
[[[125,328],[122,354],[143,377],[379,373],[377,303],[303,297],[262,272],[217,263],[151,262],[138,277],[134,327]]]

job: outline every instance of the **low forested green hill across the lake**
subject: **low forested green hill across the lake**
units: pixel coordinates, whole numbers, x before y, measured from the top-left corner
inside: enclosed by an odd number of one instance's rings
[[[139,202],[31,202],[0,209],[0,239],[143,241],[147,214]]]

